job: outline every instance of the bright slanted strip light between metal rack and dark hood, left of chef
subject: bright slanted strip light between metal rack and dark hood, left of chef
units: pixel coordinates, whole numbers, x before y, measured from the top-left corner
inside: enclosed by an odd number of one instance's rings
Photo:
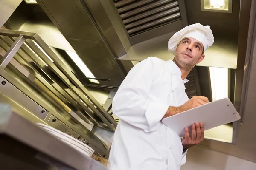
[[[67,50],[65,51],[70,56],[70,58],[76,63],[76,65],[80,68],[80,70],[84,73],[86,77],[95,78],[92,72],[89,70],[89,68],[87,68],[87,66],[84,64],[84,62],[80,59],[80,57],[76,53],[72,51],[67,51]],[[94,79],[89,79],[89,80],[90,82],[99,84],[98,80],[94,80]]]

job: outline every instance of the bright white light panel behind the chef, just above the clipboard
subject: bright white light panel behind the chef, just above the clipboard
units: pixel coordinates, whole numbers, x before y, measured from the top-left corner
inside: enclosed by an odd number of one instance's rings
[[[212,101],[228,98],[228,69],[210,67]]]

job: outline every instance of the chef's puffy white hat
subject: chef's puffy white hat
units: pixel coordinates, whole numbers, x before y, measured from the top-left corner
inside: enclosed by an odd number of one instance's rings
[[[203,26],[199,23],[186,26],[180,31],[176,32],[168,41],[168,50],[175,55],[177,44],[185,37],[192,37],[200,41],[204,45],[204,51],[212,46],[214,37],[210,26]]]

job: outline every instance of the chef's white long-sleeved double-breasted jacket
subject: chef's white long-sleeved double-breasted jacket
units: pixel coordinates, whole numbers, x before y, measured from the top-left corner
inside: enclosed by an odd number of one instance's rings
[[[161,120],[169,106],[188,101],[180,68],[149,57],[135,65],[113,98],[120,121],[111,146],[110,170],[180,170],[186,152],[180,137]]]

